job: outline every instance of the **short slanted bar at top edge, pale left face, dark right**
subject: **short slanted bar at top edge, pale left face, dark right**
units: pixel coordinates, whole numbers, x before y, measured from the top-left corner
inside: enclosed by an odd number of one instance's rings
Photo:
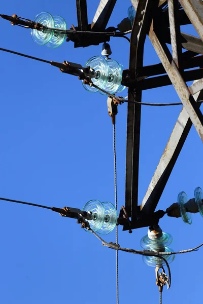
[[[100,0],[91,24],[92,29],[104,30],[106,28],[115,4],[116,0]]]

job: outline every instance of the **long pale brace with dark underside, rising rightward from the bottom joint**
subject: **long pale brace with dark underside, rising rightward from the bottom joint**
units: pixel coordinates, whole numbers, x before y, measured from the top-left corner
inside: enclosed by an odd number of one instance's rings
[[[202,100],[203,91],[196,93],[194,98],[195,100]],[[197,106],[199,107],[200,103],[197,103]],[[192,122],[186,109],[183,107],[142,201],[141,213],[150,214],[156,209],[191,126]]]

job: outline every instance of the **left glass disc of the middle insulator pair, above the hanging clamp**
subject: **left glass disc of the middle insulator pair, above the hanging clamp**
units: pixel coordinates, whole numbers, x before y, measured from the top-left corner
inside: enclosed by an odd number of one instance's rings
[[[107,61],[101,56],[91,57],[86,63],[84,67],[90,66],[91,69],[94,70],[94,78],[91,78],[93,84],[103,89],[107,83],[108,75],[109,75],[109,66]],[[82,83],[83,84],[83,83]],[[97,92],[98,89],[94,87],[90,87],[89,85],[84,85],[85,90],[89,92]]]

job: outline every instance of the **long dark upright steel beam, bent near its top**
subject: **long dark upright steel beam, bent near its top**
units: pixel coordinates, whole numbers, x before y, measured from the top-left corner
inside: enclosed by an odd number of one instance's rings
[[[140,1],[134,19],[130,39],[129,72],[136,80],[137,69],[143,66],[144,43],[149,32],[158,0]],[[142,91],[130,88],[129,101],[142,101]],[[131,220],[136,220],[138,205],[139,153],[140,153],[141,105],[128,103],[126,140],[125,210]]]

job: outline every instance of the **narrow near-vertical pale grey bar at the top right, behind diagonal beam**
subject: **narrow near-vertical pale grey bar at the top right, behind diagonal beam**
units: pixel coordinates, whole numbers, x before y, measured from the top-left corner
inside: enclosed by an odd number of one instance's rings
[[[178,19],[178,0],[168,0],[168,16],[170,23],[172,56],[179,69],[182,69],[181,31]]]

